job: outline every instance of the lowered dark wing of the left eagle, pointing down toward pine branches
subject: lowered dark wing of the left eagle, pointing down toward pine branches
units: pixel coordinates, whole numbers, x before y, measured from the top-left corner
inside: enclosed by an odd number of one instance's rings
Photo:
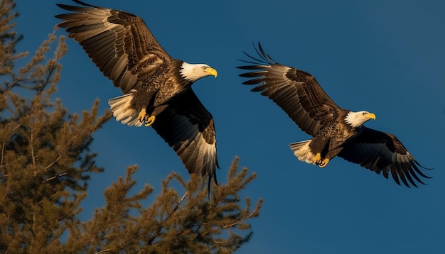
[[[153,128],[181,158],[189,173],[208,175],[209,184],[218,166],[213,116],[192,89],[172,99]]]

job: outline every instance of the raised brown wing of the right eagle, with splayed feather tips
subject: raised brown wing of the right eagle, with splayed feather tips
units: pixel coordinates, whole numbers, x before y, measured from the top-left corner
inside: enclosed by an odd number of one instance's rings
[[[258,85],[252,92],[262,92],[275,101],[294,122],[311,136],[314,136],[320,128],[332,120],[338,106],[329,98],[321,86],[308,72],[293,67],[281,65],[264,53],[258,43],[255,48],[260,59],[252,58],[245,61],[253,65],[240,66],[243,70],[252,70],[240,74],[241,77],[252,79],[242,84]]]

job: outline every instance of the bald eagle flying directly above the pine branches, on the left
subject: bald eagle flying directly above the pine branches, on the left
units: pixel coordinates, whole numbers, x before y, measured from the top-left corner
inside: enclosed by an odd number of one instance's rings
[[[55,16],[68,37],[82,45],[99,70],[123,94],[109,99],[116,117],[129,126],[153,126],[181,158],[189,173],[216,181],[213,116],[191,89],[215,69],[177,60],[159,45],[139,16],[82,1],[57,4],[71,13]]]

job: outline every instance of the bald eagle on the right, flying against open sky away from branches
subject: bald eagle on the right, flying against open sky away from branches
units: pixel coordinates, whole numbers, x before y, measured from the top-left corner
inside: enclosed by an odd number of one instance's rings
[[[302,131],[313,136],[290,144],[296,158],[326,167],[339,156],[379,175],[382,172],[385,178],[391,173],[397,184],[402,180],[407,187],[409,183],[417,187],[416,181],[424,184],[418,175],[430,178],[419,170],[422,165],[394,135],[363,126],[375,120],[375,114],[342,109],[311,74],[275,62],[260,43],[255,50],[259,57],[245,53],[251,60],[242,60],[252,65],[238,67],[250,71],[240,74],[251,78],[243,84],[257,85],[252,92],[268,96]]]

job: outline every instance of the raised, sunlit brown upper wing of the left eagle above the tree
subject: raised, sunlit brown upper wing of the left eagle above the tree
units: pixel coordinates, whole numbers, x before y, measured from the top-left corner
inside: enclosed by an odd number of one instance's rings
[[[172,58],[163,50],[138,16],[73,0],[83,6],[58,6],[73,13],[63,19],[68,37],[76,40],[100,71],[124,94],[138,89],[142,81]],[[84,7],[86,6],[86,7]]]

